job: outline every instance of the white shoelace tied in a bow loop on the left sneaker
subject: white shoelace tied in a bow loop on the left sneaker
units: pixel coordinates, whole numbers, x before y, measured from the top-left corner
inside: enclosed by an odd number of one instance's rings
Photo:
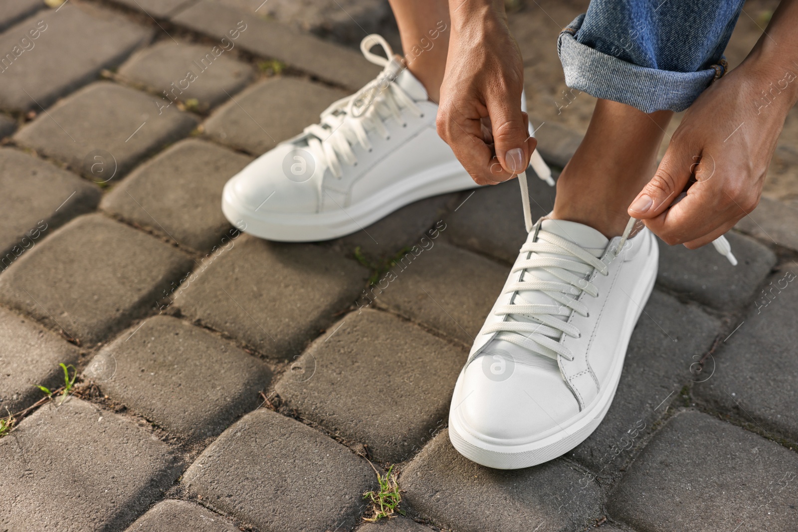
[[[389,59],[371,53],[374,45],[381,45]],[[406,124],[403,111],[420,118],[424,116],[413,98],[393,83],[405,67],[394,57],[388,41],[372,33],[363,38],[360,49],[369,62],[384,67],[380,75],[357,93],[330,104],[322,112],[318,124],[305,128],[308,147],[314,152],[316,160],[330,168],[336,178],[342,176],[342,163],[358,164],[358,158],[352,150],[354,144],[360,144],[363,149],[370,151],[369,135],[376,133],[385,140],[390,139],[385,120],[393,118],[399,124]],[[321,174],[318,172],[318,175]],[[321,184],[319,180],[319,191]]]

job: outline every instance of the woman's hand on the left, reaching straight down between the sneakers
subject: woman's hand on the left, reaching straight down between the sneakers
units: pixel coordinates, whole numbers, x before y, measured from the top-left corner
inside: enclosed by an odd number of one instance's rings
[[[476,183],[500,183],[527,168],[536,144],[527,113],[521,112],[521,53],[504,2],[463,0],[450,6],[438,134]]]

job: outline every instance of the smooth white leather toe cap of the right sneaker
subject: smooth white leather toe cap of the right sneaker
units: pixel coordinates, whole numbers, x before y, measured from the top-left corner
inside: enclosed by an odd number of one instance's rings
[[[503,365],[489,355],[465,368],[452,404],[468,432],[499,440],[534,438],[579,413],[556,361]]]

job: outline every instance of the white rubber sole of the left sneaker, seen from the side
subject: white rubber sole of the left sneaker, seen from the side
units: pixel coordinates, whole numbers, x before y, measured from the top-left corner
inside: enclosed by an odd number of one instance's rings
[[[255,212],[235,197],[231,182],[224,186],[222,211],[243,231],[279,242],[318,242],[361,231],[393,211],[419,199],[478,187],[457,161],[421,171],[395,183],[378,194],[349,207],[319,213]]]

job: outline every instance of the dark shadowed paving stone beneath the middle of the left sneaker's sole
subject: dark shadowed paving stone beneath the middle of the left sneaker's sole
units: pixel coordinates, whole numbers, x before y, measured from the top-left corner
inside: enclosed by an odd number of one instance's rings
[[[436,227],[446,227],[446,212],[453,208],[452,203],[459,197],[458,194],[444,194],[421,199],[401,207],[369,227],[364,227],[362,231],[330,243],[348,254],[354,254],[355,248],[359,247],[360,253],[369,262],[382,264],[404,247],[421,246],[425,231],[437,234],[434,231]],[[456,206],[454,203],[454,207]]]

